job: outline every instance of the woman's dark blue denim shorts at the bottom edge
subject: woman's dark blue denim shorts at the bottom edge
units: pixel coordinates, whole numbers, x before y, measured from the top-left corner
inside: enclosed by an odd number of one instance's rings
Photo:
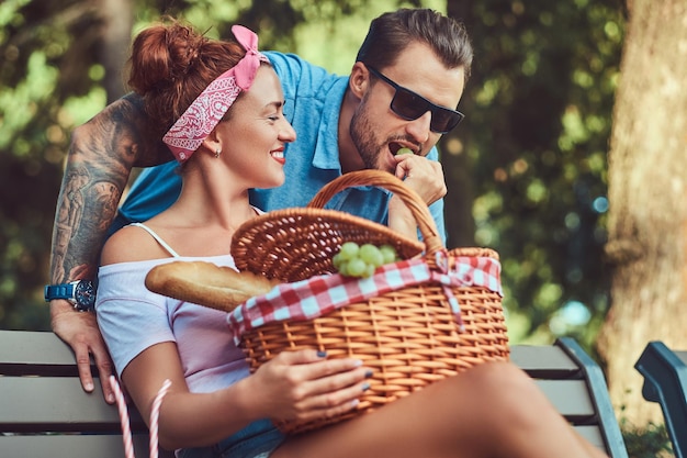
[[[184,448],[179,458],[268,458],[285,436],[269,420],[252,422],[210,447]]]

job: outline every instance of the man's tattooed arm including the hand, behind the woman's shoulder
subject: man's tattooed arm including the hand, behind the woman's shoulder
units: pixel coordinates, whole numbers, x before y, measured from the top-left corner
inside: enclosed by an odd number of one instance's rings
[[[100,250],[132,168],[171,159],[145,121],[140,99],[128,94],[74,131],[55,212],[52,283],[94,279]],[[89,356],[93,355],[105,400],[114,402],[108,382],[112,364],[95,315],[77,312],[69,302],[57,299],[50,301],[50,319],[53,332],[75,353],[83,389],[93,390]]]

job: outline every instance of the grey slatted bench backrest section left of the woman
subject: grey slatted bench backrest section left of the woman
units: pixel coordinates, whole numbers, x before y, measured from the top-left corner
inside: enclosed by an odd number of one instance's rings
[[[97,373],[93,368],[93,373]],[[148,429],[129,405],[136,458],[149,454]],[[116,406],[99,380],[81,389],[69,347],[53,333],[0,331],[0,450],[8,458],[123,458]]]

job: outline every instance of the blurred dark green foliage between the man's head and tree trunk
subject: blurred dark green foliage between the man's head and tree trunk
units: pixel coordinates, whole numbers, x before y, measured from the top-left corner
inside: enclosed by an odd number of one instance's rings
[[[460,136],[474,174],[475,242],[502,256],[514,340],[589,343],[609,304],[602,246],[619,3],[487,0],[468,18],[475,65]]]

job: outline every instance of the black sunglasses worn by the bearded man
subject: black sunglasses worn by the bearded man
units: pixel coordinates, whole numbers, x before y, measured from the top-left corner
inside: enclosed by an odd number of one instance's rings
[[[431,112],[429,130],[438,134],[446,134],[455,127],[465,118],[460,111],[437,105],[423,96],[413,92],[373,67],[367,66],[372,75],[386,82],[396,91],[391,99],[391,110],[406,121],[415,121],[428,111]]]

